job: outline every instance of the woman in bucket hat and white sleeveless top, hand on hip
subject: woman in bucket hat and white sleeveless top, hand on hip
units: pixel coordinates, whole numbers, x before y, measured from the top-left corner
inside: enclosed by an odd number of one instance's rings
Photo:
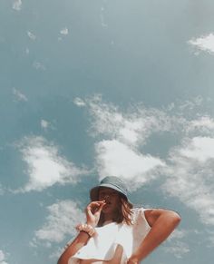
[[[180,222],[172,210],[132,209],[125,183],[105,177],[90,191],[86,223],[58,264],[138,264],[166,240]]]

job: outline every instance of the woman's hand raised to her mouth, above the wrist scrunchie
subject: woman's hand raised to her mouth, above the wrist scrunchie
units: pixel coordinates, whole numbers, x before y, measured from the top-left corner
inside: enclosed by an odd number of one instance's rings
[[[85,209],[87,224],[93,228],[97,226],[100,220],[102,207],[106,204],[105,200],[92,201]]]

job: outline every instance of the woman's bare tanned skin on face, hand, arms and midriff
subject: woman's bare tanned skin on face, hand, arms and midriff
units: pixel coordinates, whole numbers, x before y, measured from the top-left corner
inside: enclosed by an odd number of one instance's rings
[[[96,227],[101,216],[104,215],[104,221],[112,221],[113,216],[121,206],[120,195],[111,188],[102,187],[99,190],[98,200],[92,201],[85,209],[86,223],[92,227]],[[180,216],[172,210],[153,209],[145,210],[145,218],[151,226],[150,232],[146,238],[141,241],[138,249],[136,249],[127,264],[139,264],[145,259],[153,249],[156,249],[161,242],[166,240],[170,233],[180,223]],[[105,223],[104,223],[105,224]],[[58,260],[57,264],[68,264],[68,260],[89,240],[89,236],[80,232],[73,242],[67,246]],[[113,258],[109,261],[102,261],[102,264],[119,264],[122,258],[122,246],[118,245]],[[98,259],[80,260],[81,264],[96,264]]]

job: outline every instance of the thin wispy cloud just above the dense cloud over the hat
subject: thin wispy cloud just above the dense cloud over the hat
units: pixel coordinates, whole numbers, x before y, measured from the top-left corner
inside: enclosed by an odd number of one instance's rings
[[[102,134],[137,146],[145,143],[151,133],[174,129],[172,126],[175,122],[170,116],[157,109],[146,109],[139,105],[122,112],[111,103],[102,103],[100,96],[86,100],[86,103],[93,118],[93,136]]]

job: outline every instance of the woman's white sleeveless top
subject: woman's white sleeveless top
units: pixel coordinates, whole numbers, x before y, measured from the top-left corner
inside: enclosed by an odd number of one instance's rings
[[[143,208],[135,208],[132,212],[133,225],[131,226],[112,222],[95,228],[97,235],[92,237],[82,249],[79,249],[69,259],[68,264],[80,263],[80,259],[100,259],[96,261],[96,264],[102,263],[102,260],[110,260],[118,245],[121,245],[123,249],[121,264],[127,263],[131,253],[139,247],[141,241],[151,230],[145,219]]]

